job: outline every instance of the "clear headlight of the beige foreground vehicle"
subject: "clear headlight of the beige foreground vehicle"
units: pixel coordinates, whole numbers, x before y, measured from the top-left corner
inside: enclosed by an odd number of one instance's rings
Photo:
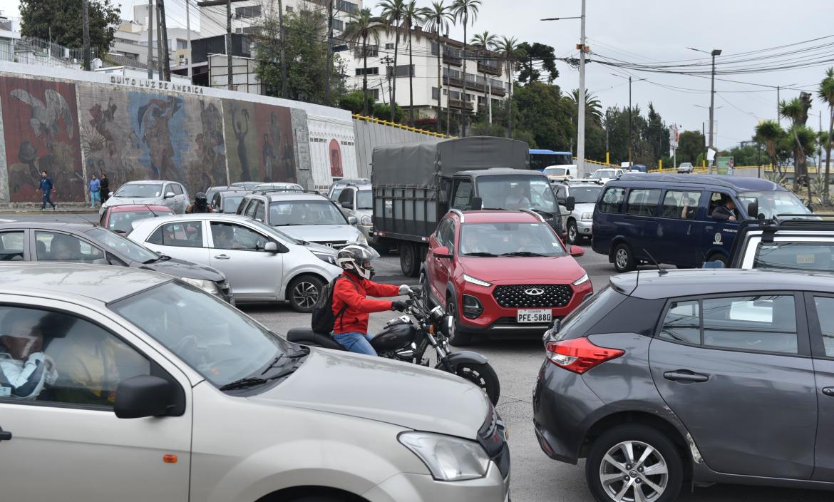
[[[490,457],[475,441],[430,432],[404,432],[397,439],[439,481],[483,478],[490,467]]]

